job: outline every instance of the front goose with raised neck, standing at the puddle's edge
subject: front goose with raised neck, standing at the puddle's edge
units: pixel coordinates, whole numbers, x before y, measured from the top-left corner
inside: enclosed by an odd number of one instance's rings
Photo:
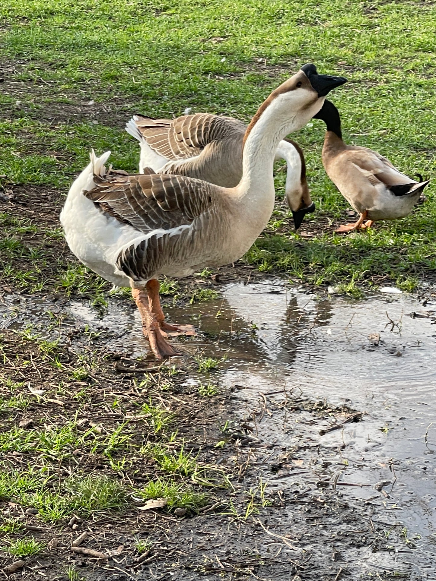
[[[131,287],[156,357],[177,353],[165,331],[178,329],[160,309],[159,275],[186,277],[231,263],[250,248],[273,211],[280,140],[308,123],[345,81],[306,64],[273,91],[245,131],[242,178],[234,188],[183,175],[106,171],[110,152],[98,159],[91,153],[60,214],[66,240],[91,270]]]

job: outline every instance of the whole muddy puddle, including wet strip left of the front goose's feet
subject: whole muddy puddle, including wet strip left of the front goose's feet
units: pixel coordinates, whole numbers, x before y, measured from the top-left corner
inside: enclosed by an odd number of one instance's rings
[[[3,326],[48,310],[43,301],[14,300],[3,305]],[[110,299],[103,317],[85,302],[49,309],[105,332],[112,352],[145,352],[126,299]],[[370,505],[368,528],[377,525],[388,539],[400,525],[405,543],[348,547],[349,570],[436,579],[436,302],[380,292],[360,302],[317,299],[274,281],[229,285],[217,300],[166,313],[199,329],[183,339],[187,357],[226,357],[217,376],[267,490],[309,491],[318,500],[330,490]],[[292,512],[280,519],[292,532]],[[317,529],[317,542],[323,534]],[[310,545],[310,535],[299,539],[300,548]]]

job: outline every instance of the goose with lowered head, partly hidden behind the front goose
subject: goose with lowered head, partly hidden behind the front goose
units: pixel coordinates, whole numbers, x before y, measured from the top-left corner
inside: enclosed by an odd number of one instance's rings
[[[141,173],[152,167],[158,173],[187,175],[224,188],[234,188],[241,180],[246,125],[238,119],[210,113],[177,119],[134,115],[126,131],[140,142]],[[304,154],[295,141],[284,138],[274,159],[287,164],[285,195],[298,229],[305,214],[315,211]]]

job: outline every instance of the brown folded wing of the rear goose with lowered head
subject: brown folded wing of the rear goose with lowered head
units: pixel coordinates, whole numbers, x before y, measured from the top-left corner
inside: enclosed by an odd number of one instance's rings
[[[210,113],[184,115],[177,119],[133,118],[145,141],[156,153],[169,160],[199,155],[212,141],[245,133],[242,121]]]

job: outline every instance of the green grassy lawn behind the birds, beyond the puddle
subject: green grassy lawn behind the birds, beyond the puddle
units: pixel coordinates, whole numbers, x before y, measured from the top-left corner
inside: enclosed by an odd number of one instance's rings
[[[0,96],[3,187],[66,192],[91,148],[112,149],[114,166],[133,171],[138,147],[122,128],[132,113],[165,117],[190,106],[248,120],[270,90],[305,62],[349,78],[332,96],[347,142],[376,149],[409,175],[434,173],[434,3],[355,0],[346,10],[339,0],[113,0],[89,6],[85,0],[0,0],[0,57],[16,63],[12,79],[26,87]],[[97,108],[83,117],[60,109],[78,103],[85,110],[91,99]],[[102,105],[111,103],[116,106],[106,114]],[[56,123],[47,119],[51,112],[59,113]],[[295,136],[319,209],[308,220],[346,220],[348,205],[320,161],[323,132],[323,123],[314,120]],[[284,178],[278,172],[278,198]],[[426,195],[428,201],[408,218],[349,236],[327,231],[303,238],[288,228],[280,206],[245,260],[295,280],[339,283],[351,294],[385,275],[412,290],[436,268],[433,183]],[[44,247],[34,248],[38,259],[27,270],[13,261],[28,257],[31,245],[21,237],[32,227],[9,224],[13,232],[2,245],[10,258],[8,276],[38,290]],[[67,293],[101,296],[99,282],[81,266],[70,266],[58,279]],[[202,297],[210,298],[210,290],[196,298]]]

